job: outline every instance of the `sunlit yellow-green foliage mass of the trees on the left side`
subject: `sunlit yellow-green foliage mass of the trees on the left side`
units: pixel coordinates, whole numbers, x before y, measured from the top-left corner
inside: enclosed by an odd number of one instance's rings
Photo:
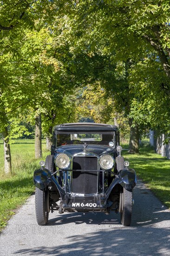
[[[41,21],[31,30],[23,28],[22,40],[12,34],[2,40],[4,45],[13,45],[11,52],[3,51],[0,61],[0,131],[10,125],[10,138],[28,135],[25,126],[19,127],[23,116],[33,124],[35,116],[43,114],[45,134],[55,122],[69,120],[71,105],[65,96],[74,83],[65,58],[70,57],[65,54],[64,40],[41,27]]]

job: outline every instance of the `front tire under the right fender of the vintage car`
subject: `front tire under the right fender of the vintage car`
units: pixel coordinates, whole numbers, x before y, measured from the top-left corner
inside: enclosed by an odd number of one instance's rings
[[[123,193],[121,196],[121,209],[122,212],[120,213],[121,223],[124,226],[131,225],[131,214],[132,214],[132,190],[123,189]]]

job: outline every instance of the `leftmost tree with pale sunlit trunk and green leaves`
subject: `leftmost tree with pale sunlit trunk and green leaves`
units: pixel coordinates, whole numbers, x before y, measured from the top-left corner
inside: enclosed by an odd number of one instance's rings
[[[21,121],[19,116],[23,108],[25,106],[28,108],[32,105],[37,95],[40,95],[39,90],[36,88],[36,86],[38,86],[37,77],[39,76],[40,78],[40,74],[37,74],[37,69],[33,65],[35,60],[37,61],[37,55],[33,56],[29,54],[30,49],[29,51],[25,51],[25,40],[29,34],[26,32],[26,30],[22,31],[22,35],[24,35],[22,41],[20,37],[16,39],[14,36],[4,37],[2,40],[4,47],[7,47],[7,50],[2,50],[0,60],[0,132],[3,134],[4,140],[4,166],[6,173],[11,172],[9,139],[11,137],[20,137],[23,135],[23,132],[27,131],[24,126],[18,129],[18,121]],[[10,47],[8,48],[8,46]],[[41,72],[41,74],[42,73],[43,72]],[[46,83],[45,78],[46,76],[44,76],[42,80],[44,83]],[[42,86],[40,90],[43,90]],[[37,100],[39,100],[38,97]],[[18,134],[16,135],[16,133]]]

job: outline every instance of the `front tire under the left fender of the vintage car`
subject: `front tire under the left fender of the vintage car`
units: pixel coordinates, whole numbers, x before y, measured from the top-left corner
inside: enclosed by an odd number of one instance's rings
[[[46,225],[49,215],[49,191],[46,189],[35,189],[35,215],[39,225]]]

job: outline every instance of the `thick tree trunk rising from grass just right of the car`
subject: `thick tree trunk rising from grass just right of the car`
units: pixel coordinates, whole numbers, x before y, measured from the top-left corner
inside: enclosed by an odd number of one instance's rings
[[[139,153],[139,127],[135,124],[132,127],[133,120],[129,118],[129,125],[130,125],[130,141],[129,141],[129,153],[135,154]]]

